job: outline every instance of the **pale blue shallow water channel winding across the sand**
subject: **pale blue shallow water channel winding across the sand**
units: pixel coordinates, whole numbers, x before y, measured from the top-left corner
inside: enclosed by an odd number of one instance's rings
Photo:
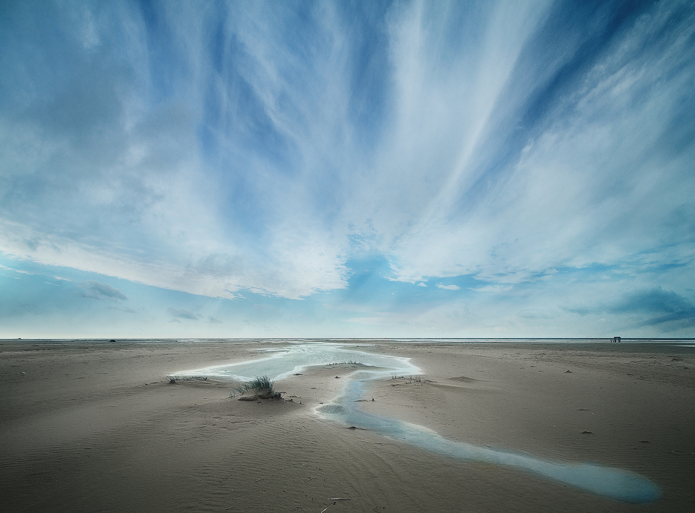
[[[384,437],[405,441],[433,453],[530,471],[594,494],[631,503],[651,502],[661,496],[660,489],[653,482],[634,472],[594,464],[553,462],[505,450],[473,446],[445,439],[424,426],[363,412],[359,408],[359,400],[365,395],[370,380],[423,373],[409,358],[377,355],[357,350],[354,345],[346,343],[297,343],[260,350],[256,359],[177,374],[238,381],[267,375],[272,380],[282,380],[311,366],[340,363],[359,363],[363,367],[347,376],[340,395],[315,409],[316,414],[322,418],[373,430]]]

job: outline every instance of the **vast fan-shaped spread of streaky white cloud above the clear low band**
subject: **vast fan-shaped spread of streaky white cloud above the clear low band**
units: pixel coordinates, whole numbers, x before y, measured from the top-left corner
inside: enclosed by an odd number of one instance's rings
[[[373,252],[391,281],[489,282],[472,290],[496,292],[475,295],[491,330],[521,323],[506,304],[509,318],[491,314],[512,286],[534,284],[529,311],[545,315],[556,280],[588,279],[558,269],[692,286],[657,273],[695,254],[695,147],[679,117],[695,76],[687,9],[676,20],[655,4],[548,92],[582,56],[573,38],[553,59],[531,50],[546,2],[484,3],[475,17],[456,12],[465,3],[398,3],[370,33],[332,3],[303,24],[274,3],[163,3],[167,40],[109,5],[54,10],[8,38],[22,59],[0,70],[6,254],[211,297],[300,299],[347,287],[352,253]],[[74,40],[47,47],[54,25]],[[383,315],[373,322],[401,320]],[[474,317],[451,303],[417,322]]]

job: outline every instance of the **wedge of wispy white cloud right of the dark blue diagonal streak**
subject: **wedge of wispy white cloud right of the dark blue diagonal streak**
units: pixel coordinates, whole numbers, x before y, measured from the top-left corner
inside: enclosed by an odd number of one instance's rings
[[[663,23],[662,13],[645,15],[566,92],[518,160],[484,187],[457,171],[432,209],[389,247],[397,275],[471,274],[514,284],[562,266],[629,267],[661,247],[678,254],[664,264],[692,255],[689,225],[676,219],[695,211],[695,147],[673,152],[668,134],[692,90],[685,41],[693,29],[683,21],[682,36],[662,43],[669,51],[654,45],[640,53]],[[518,108],[505,101],[500,97],[497,108]],[[471,158],[476,154],[483,155],[476,150]]]

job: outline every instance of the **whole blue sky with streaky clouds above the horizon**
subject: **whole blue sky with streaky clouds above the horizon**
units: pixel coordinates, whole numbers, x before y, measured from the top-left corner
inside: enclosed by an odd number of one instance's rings
[[[692,1],[0,3],[0,338],[695,336]]]

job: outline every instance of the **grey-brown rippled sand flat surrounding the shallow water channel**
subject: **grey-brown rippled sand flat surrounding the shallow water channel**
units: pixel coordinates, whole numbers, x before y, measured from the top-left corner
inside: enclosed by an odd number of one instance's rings
[[[694,348],[373,343],[425,375],[375,382],[366,411],[635,471],[662,498],[622,503],[317,418],[349,365],[290,377],[277,386],[285,400],[261,402],[229,398],[227,383],[165,378],[250,359],[265,342],[3,341],[0,511],[695,511]]]

